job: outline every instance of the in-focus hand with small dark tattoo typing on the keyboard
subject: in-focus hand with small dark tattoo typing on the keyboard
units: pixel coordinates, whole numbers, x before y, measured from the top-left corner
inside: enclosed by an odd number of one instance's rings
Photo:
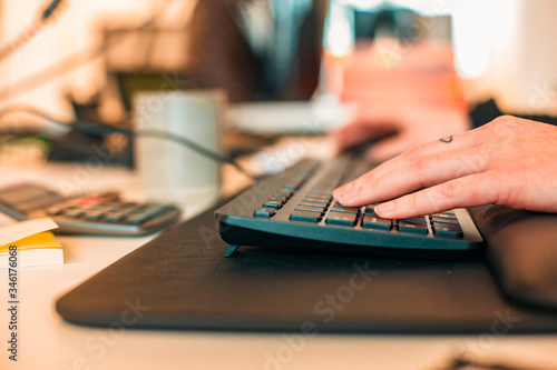
[[[416,147],[344,184],[333,197],[402,219],[488,203],[557,212],[557,127],[502,116]]]

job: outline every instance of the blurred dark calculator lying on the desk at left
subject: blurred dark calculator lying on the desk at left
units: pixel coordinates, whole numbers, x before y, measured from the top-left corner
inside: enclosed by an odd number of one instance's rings
[[[178,207],[155,202],[128,202],[116,192],[65,197],[35,183],[0,188],[0,212],[17,220],[50,217],[56,233],[143,236],[176,222]]]

